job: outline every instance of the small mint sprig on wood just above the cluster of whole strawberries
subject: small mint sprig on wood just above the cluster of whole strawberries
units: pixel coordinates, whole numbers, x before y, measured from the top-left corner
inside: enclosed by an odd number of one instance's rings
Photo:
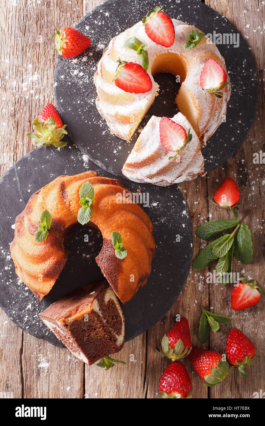
[[[222,324],[228,324],[228,322],[231,322],[231,320],[228,317],[213,314],[212,312],[206,311],[206,309],[202,308],[202,316],[199,321],[200,342],[207,342],[210,336],[210,327],[214,333],[218,333],[220,331],[221,326],[219,325],[219,322],[221,322]]]

